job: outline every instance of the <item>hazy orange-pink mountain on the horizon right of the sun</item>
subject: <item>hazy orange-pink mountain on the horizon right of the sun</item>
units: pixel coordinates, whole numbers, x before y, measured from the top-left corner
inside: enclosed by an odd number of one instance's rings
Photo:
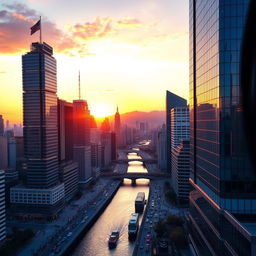
[[[111,123],[114,121],[114,116],[109,117]],[[148,122],[149,128],[155,128],[165,123],[165,111],[133,111],[121,114],[121,123],[128,126],[136,126],[136,122]]]

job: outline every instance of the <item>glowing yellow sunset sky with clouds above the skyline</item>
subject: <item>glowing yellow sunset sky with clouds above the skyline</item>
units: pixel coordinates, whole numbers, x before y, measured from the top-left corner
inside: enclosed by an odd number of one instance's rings
[[[165,109],[188,97],[187,0],[0,0],[0,114],[22,122],[21,56],[39,32],[57,60],[58,97],[81,96],[96,117]]]

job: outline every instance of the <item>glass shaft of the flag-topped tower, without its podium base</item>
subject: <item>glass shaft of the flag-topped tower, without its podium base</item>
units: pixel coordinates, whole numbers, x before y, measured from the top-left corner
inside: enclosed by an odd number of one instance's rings
[[[56,60],[52,47],[32,43],[22,56],[24,149],[27,186],[49,188],[58,182]]]

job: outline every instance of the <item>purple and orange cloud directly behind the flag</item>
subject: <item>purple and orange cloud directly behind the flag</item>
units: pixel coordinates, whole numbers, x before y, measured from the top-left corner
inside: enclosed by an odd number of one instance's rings
[[[0,53],[24,52],[31,42],[30,27],[36,23],[40,14],[24,4],[4,5],[0,11]],[[54,45],[59,52],[74,49],[78,45],[72,37],[63,33],[46,17],[42,17],[43,40]],[[37,38],[38,32],[32,37]]]

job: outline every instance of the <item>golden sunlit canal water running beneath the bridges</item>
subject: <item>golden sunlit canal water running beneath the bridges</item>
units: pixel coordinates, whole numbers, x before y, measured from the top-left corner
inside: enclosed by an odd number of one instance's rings
[[[139,159],[137,153],[129,153],[128,158]],[[131,161],[128,172],[147,172],[142,162]],[[105,256],[105,255],[132,255],[135,242],[128,239],[128,222],[134,212],[134,200],[138,192],[143,191],[148,197],[149,181],[139,179],[136,186],[130,180],[124,180],[115,197],[97,222],[81,240],[73,252],[73,256]],[[142,216],[140,216],[140,221]],[[119,230],[120,238],[115,249],[108,248],[108,238],[113,230]]]

